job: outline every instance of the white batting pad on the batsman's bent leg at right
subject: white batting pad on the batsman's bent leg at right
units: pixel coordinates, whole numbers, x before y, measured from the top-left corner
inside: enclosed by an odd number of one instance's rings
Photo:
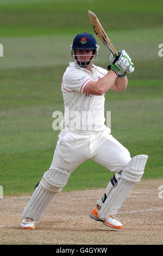
[[[98,212],[101,220],[106,220],[110,215],[115,215],[121,208],[128,193],[131,191],[135,183],[139,182],[147,162],[147,155],[138,155],[129,161],[122,170],[121,179],[112,187],[101,209]]]

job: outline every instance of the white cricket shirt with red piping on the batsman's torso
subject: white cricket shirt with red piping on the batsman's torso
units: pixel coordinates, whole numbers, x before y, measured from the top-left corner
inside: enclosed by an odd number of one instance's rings
[[[61,127],[65,130],[103,131],[106,129],[103,95],[83,93],[86,84],[97,82],[108,73],[99,66],[92,66],[92,72],[76,63],[70,63],[62,78],[61,90],[65,114]]]

